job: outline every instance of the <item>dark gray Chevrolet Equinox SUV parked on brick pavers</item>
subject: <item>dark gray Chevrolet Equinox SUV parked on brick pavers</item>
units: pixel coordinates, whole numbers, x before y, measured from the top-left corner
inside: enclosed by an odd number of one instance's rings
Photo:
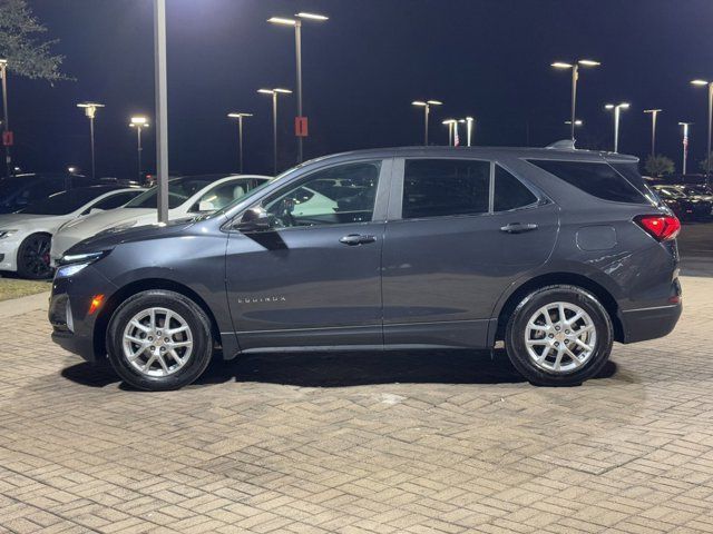
[[[636,158],[398,148],[324,157],[211,216],[96,236],[53,283],[52,338],[143,389],[223,357],[490,348],[539,385],[681,315],[680,224]]]

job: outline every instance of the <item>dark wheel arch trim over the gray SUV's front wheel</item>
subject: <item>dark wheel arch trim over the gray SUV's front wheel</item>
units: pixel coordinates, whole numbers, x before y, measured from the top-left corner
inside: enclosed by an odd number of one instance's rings
[[[215,315],[213,314],[213,310],[207,305],[207,303],[203,299],[203,297],[201,297],[201,295],[198,295],[189,287],[175,280],[169,280],[166,278],[144,278],[140,280],[131,281],[119,288],[108,298],[108,300],[101,307],[101,310],[99,312],[99,315],[97,316],[95,323],[92,339],[94,352],[97,358],[104,358],[106,356],[107,329],[109,326],[109,320],[111,319],[111,316],[114,315],[116,308],[118,308],[119,305],[127,298],[149,289],[166,289],[169,291],[175,291],[193,300],[207,315],[208,320],[211,322],[211,333],[215,343],[217,345],[223,345],[221,338],[221,328],[218,328]]]

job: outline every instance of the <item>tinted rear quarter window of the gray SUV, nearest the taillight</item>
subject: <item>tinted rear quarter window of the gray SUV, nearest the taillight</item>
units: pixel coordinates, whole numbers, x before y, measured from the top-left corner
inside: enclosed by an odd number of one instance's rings
[[[557,178],[594,197],[612,202],[651,204],[651,200],[607,162],[529,159]]]

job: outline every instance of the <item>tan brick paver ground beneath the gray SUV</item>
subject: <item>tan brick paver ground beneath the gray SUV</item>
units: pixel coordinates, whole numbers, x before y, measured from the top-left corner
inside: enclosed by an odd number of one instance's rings
[[[252,356],[139,393],[4,318],[0,532],[713,532],[713,279],[605,376],[501,354]]]

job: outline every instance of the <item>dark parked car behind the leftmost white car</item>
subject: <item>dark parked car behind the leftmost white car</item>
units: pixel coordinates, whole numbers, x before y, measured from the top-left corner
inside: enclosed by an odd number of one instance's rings
[[[98,185],[80,175],[27,174],[0,179],[0,214],[18,211],[59,191]]]

